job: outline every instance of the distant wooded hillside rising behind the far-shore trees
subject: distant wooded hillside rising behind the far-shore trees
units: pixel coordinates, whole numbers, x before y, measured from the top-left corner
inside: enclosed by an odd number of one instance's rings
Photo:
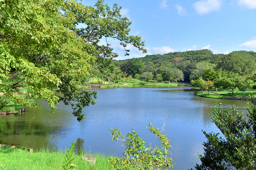
[[[129,60],[142,63],[144,71],[152,72],[154,75],[159,72],[157,70],[159,70],[159,67],[161,66],[170,69],[180,69],[184,74],[184,81],[189,81],[191,73],[193,71],[195,72],[196,69],[200,70],[206,67],[212,67],[214,70],[221,68],[222,70],[233,71],[240,75],[249,74],[256,68],[256,52],[253,51],[234,51],[224,55],[213,54],[211,50],[202,49],[185,52],[171,52],[163,55],[146,55],[141,58],[119,61],[114,60],[113,63],[116,67],[120,67],[120,69],[124,71],[124,67],[127,67],[125,63]]]

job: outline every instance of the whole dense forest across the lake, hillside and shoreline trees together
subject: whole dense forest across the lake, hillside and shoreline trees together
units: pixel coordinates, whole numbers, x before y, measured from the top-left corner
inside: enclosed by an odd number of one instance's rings
[[[121,77],[140,78],[145,72],[153,74],[157,81],[189,82],[204,77],[205,71],[212,69],[222,74],[238,76],[255,75],[256,52],[233,51],[229,54],[213,54],[211,50],[202,49],[186,52],[146,55],[141,58],[113,60],[114,73]]]

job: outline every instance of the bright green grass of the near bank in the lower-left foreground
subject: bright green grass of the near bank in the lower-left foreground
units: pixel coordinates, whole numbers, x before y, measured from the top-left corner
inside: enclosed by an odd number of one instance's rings
[[[0,148],[0,169],[63,169],[66,163],[66,152],[49,152],[41,150],[38,152],[28,152],[22,149]],[[88,155],[88,154],[84,154]],[[96,158],[95,165],[82,159],[82,154],[74,155],[73,164],[76,169],[113,169],[107,165],[108,157],[102,154],[92,155]]]

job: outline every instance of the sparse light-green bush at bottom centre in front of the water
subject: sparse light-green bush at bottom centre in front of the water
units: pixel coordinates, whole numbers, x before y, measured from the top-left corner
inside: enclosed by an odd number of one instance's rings
[[[165,124],[164,124],[165,126]],[[172,163],[172,158],[169,149],[172,147],[170,140],[167,138],[164,126],[160,129],[155,128],[153,123],[148,123],[148,130],[158,137],[162,147],[145,146],[145,140],[141,139],[138,134],[132,129],[126,136],[126,139],[121,132],[114,128],[111,131],[112,140],[121,140],[125,146],[124,157],[118,158],[111,156],[108,159],[108,165],[112,165],[117,169],[168,169],[175,164]],[[160,145],[159,145],[160,146]]]

